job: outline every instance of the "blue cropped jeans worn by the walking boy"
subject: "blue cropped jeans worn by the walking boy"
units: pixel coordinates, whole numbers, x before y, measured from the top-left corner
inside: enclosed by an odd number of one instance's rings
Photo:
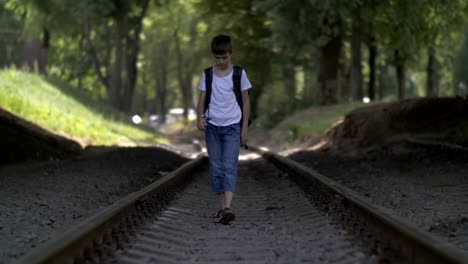
[[[215,126],[208,123],[205,132],[210,160],[211,189],[215,193],[234,192],[240,148],[240,124]]]

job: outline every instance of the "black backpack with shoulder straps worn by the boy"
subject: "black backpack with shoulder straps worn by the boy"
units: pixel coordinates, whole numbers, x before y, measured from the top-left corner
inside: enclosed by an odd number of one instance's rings
[[[241,77],[242,77],[242,68],[240,66],[234,65],[232,73],[232,82],[234,84],[234,94],[236,96],[237,104],[241,109],[241,127],[243,124],[244,118],[244,103],[242,102],[242,91],[241,91]],[[206,86],[206,97],[205,97],[205,108],[203,113],[209,108],[211,101],[211,83],[213,82],[213,67],[206,68],[205,72],[205,86]],[[249,119],[248,126],[252,124],[252,120]]]

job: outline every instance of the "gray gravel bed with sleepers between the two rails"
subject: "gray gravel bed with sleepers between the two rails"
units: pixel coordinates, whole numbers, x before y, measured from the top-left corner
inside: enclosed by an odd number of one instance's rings
[[[378,263],[265,160],[239,164],[232,225],[218,210],[208,169],[112,263]]]

